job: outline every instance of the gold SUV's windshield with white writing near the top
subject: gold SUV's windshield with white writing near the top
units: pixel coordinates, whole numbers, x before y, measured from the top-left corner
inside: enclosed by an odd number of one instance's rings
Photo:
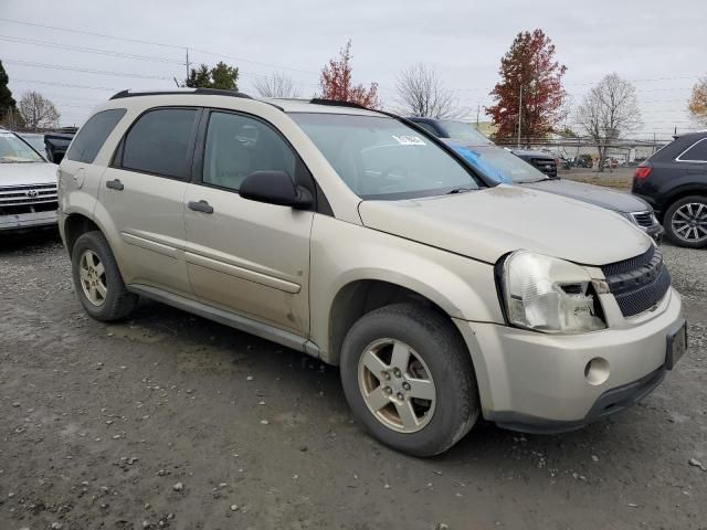
[[[468,169],[397,119],[308,113],[291,117],[361,199],[412,199],[478,189]]]

